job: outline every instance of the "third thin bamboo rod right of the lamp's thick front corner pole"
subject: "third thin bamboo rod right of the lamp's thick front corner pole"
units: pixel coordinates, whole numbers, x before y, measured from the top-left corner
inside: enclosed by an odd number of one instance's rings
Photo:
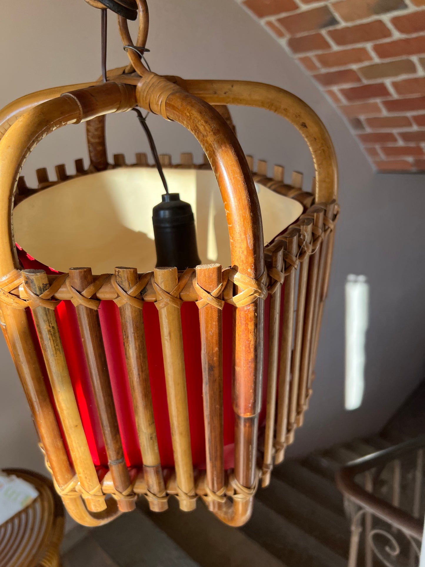
[[[312,234],[312,219],[303,219],[301,221],[300,234],[303,242],[311,243]],[[305,252],[305,247],[301,248],[300,255]],[[308,264],[309,255],[305,255],[304,260],[301,262],[300,274],[298,280],[298,295],[296,304],[295,316],[295,335],[294,335],[294,352],[292,353],[292,369],[291,369],[291,384],[290,384],[290,401],[288,408],[288,431],[286,435],[286,443],[290,445],[294,441],[295,428],[296,428],[296,412],[298,405],[298,391],[300,386],[300,363],[301,363],[301,348],[303,346],[303,325],[304,325],[304,310],[305,310],[305,293],[307,291],[307,277],[308,277]]]

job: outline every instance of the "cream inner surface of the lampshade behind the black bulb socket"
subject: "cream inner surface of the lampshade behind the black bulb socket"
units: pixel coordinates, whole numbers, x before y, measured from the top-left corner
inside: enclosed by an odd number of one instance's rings
[[[199,257],[230,265],[226,214],[211,170],[164,170],[170,193],[192,205]],[[303,208],[257,184],[265,243],[291,225]],[[90,266],[113,273],[115,266],[149,272],[156,264],[152,208],[164,188],[154,168],[129,167],[75,177],[20,202],[14,209],[16,242],[59,272]]]

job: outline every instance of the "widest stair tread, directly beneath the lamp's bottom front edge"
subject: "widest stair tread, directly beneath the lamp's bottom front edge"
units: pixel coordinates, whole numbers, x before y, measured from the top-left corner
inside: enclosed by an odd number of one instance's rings
[[[203,502],[198,501],[196,510],[190,513],[179,510],[175,498],[169,500],[169,509],[162,514],[148,510],[143,501],[140,509],[202,567],[288,567],[242,530],[220,522]]]

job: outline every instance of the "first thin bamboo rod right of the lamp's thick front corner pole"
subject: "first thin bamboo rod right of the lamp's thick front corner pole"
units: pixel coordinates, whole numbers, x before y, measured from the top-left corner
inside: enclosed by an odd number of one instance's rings
[[[276,167],[276,166],[275,166]],[[273,251],[265,252],[267,270],[282,272],[283,267],[283,244],[277,241],[277,247]],[[272,272],[273,274],[273,272]],[[279,321],[281,318],[281,291],[282,284],[271,277],[270,293],[270,316],[269,316],[269,363],[267,366],[267,400],[266,400],[266,429],[264,435],[264,461],[262,472],[262,486],[270,484],[271,469],[273,468],[273,441],[274,422],[276,414],[276,389],[278,374],[278,349],[279,349]]]

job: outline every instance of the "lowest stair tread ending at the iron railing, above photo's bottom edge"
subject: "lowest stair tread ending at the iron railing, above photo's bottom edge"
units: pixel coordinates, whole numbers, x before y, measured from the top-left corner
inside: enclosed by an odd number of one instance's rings
[[[257,493],[257,498],[271,510],[313,536],[342,557],[349,551],[349,523],[312,500],[300,490],[272,477],[270,485]]]

